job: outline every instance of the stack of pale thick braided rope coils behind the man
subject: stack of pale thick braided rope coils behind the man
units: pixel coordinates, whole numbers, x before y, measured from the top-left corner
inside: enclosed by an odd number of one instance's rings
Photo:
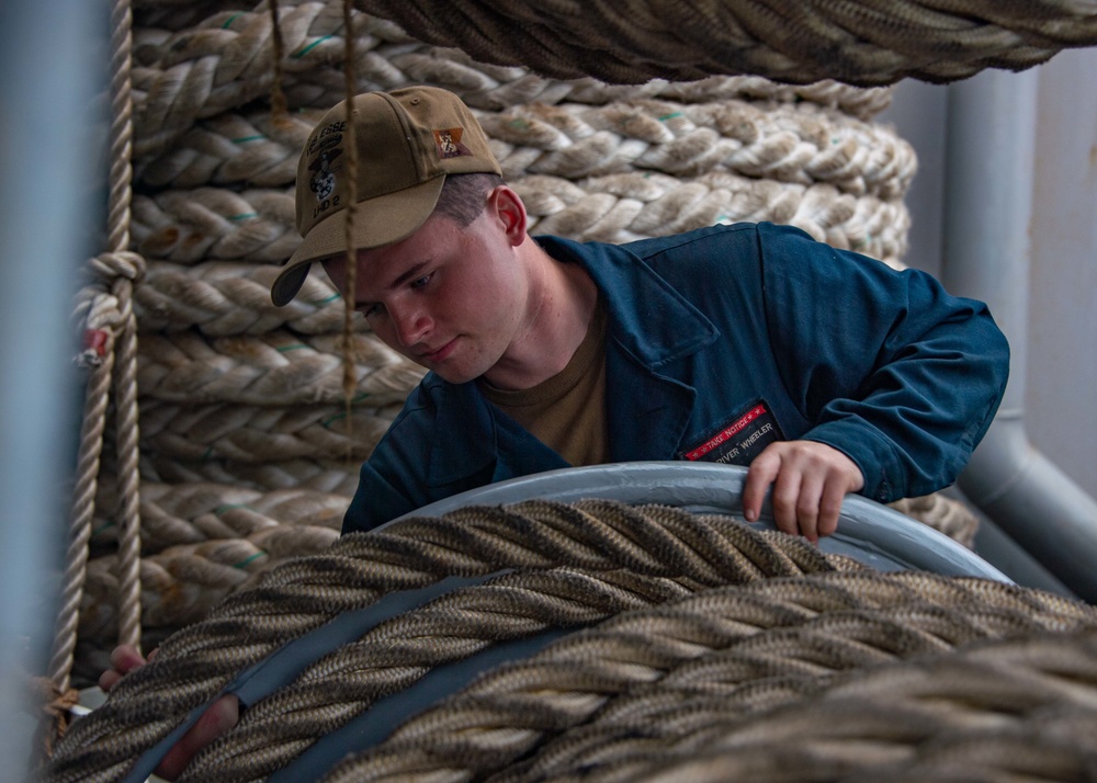
[[[285,553],[329,543],[358,465],[421,376],[364,327],[348,344],[341,302],[323,275],[310,275],[289,307],[269,298],[278,264],[299,241],[292,186],[301,146],[342,98],[341,13],[341,0],[278,4],[276,83],[291,110],[280,114],[269,102],[276,76],[265,4],[136,9],[129,234],[145,264],[132,304],[144,538],[136,571],[152,643]],[[901,264],[916,159],[872,121],[889,89],[745,76],[563,81],[476,63],[367,13],[354,12],[352,26],[359,90],[430,82],[474,106],[535,234],[626,241],[776,220]],[[349,416],[348,354],[357,379]],[[120,495],[134,490],[114,475],[112,445],[80,601],[89,676],[114,643],[124,592],[112,547]],[[920,517],[949,519],[950,534],[970,538],[970,514],[935,506]]]

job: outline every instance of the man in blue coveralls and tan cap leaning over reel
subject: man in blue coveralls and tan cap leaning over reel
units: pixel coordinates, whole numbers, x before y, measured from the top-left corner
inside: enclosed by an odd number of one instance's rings
[[[928,275],[766,224],[620,247],[533,239],[455,95],[352,103],[352,127],[339,104],[302,152],[304,241],[271,296],[285,305],[320,263],[431,372],[362,466],[344,532],[568,465],[708,459],[749,465],[748,520],[771,489],[777,526],[817,541],[847,492],[890,501],[951,484],[994,417],[1006,341],[985,306]],[[112,662],[104,689],[144,661],[121,647]],[[216,702],[160,774],[236,719],[235,697]]]

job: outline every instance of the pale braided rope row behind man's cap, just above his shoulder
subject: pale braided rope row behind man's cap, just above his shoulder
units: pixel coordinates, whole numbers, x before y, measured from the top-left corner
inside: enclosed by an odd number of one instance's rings
[[[902,200],[853,196],[827,183],[629,171],[577,181],[529,174],[510,184],[527,201],[534,235],[626,242],[720,222],[772,220],[893,266],[906,251]],[[283,191],[165,191],[135,198],[135,242],[144,256],[180,264],[283,261],[301,242],[292,211],[293,194]]]

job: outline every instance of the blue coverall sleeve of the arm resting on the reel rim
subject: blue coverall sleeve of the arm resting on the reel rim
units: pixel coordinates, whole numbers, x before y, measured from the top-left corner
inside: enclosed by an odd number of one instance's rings
[[[1009,349],[986,307],[803,231],[758,231],[779,372],[814,422],[805,440],[849,456],[881,502],[952,484],[1005,390]]]

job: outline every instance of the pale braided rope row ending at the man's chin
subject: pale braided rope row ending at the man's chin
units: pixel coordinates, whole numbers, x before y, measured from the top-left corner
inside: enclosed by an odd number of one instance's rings
[[[142,394],[190,405],[236,402],[260,407],[342,401],[341,334],[206,339],[197,332],[146,334],[137,378]],[[355,332],[355,404],[402,402],[426,372],[381,342]]]

